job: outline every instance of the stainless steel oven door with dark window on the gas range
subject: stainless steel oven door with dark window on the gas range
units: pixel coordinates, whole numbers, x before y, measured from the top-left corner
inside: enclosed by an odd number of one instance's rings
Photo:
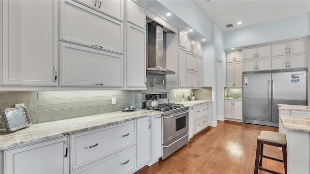
[[[188,112],[163,116],[163,145],[188,131]]]

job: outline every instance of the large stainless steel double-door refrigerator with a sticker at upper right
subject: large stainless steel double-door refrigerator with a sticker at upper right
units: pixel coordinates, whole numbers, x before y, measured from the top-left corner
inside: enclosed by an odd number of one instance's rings
[[[307,71],[244,72],[243,122],[278,127],[278,104],[307,105]]]

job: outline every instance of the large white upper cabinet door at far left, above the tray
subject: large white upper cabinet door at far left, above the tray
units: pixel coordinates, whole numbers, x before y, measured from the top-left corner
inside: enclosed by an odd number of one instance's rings
[[[1,3],[1,84],[57,86],[58,0]]]

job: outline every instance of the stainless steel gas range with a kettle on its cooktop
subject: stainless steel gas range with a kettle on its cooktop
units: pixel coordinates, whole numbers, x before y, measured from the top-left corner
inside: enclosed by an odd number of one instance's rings
[[[155,102],[158,106],[154,106],[154,100],[158,101]],[[188,142],[188,106],[169,103],[169,93],[137,93],[136,108],[163,112],[161,160],[186,145]]]

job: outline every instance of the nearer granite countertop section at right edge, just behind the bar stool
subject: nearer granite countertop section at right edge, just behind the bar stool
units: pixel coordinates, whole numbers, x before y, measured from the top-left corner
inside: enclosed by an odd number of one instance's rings
[[[310,133],[310,118],[280,116],[284,129]]]

